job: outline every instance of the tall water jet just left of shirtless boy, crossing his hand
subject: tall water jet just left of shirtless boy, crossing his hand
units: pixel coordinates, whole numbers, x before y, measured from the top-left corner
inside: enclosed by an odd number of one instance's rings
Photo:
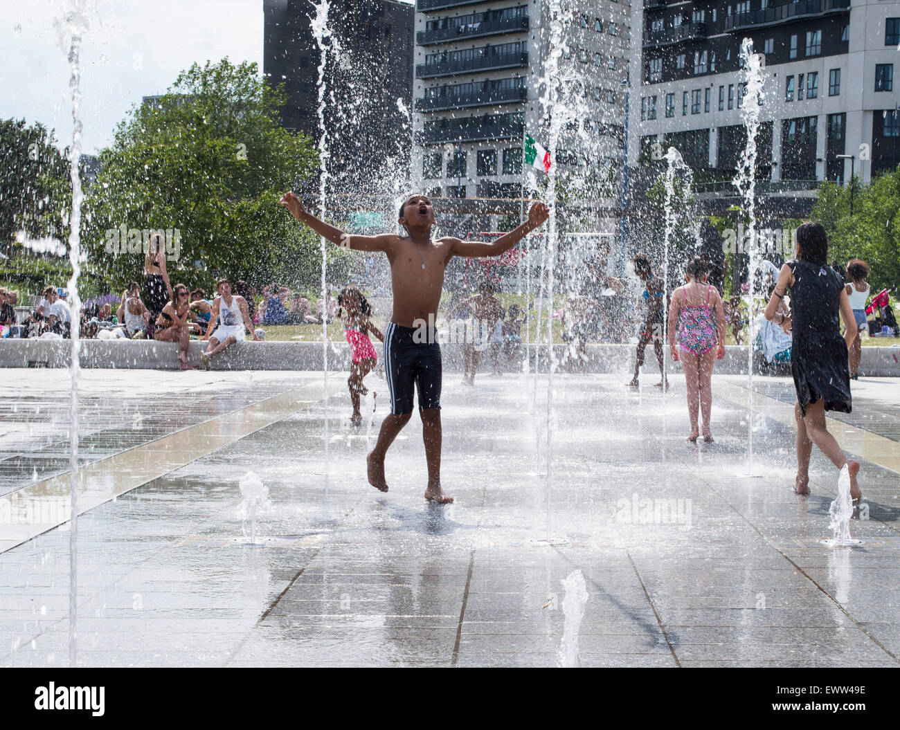
[[[331,49],[334,38],[329,33],[329,0],[320,0],[313,3],[316,14],[311,18],[312,35],[319,46],[319,80],[317,90],[319,93],[319,105],[317,107],[319,115],[319,124],[321,127],[321,135],[319,138],[319,156],[320,156],[320,175],[319,175],[319,217],[325,220],[325,187],[328,182],[328,160],[329,160],[329,138],[328,129],[325,126],[325,69],[329,59],[329,50]],[[329,42],[326,43],[326,36]],[[329,494],[329,311],[328,311],[328,241],[325,236],[320,237],[320,248],[322,254],[322,405],[325,409],[323,419],[325,421],[325,431],[322,439],[325,446],[325,496]]]

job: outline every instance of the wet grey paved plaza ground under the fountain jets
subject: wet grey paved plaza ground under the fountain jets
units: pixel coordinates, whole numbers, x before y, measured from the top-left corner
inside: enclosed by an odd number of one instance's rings
[[[548,534],[545,379],[470,388],[447,376],[443,481],[457,501],[439,507],[422,499],[418,418],[389,453],[388,494],[365,482],[381,403],[367,437],[348,423],[346,394],[329,396],[328,459],[324,390],[295,410],[276,401],[257,428],[255,404],[321,379],[301,375],[168,373],[157,394],[117,371],[85,385],[135,396],[121,423],[146,414],[128,441],[105,441],[85,417],[86,442],[113,457],[153,453],[175,432],[230,435],[198,458],[189,445],[164,450],[164,474],[79,519],[80,665],[554,666],[562,582],[575,570],[589,596],[583,666],[898,664],[900,475],[882,441],[859,441],[869,511],[851,530],[864,543],[825,547],[837,475],[814,451],[813,494],[792,493],[785,378],[757,389],[751,468],[741,378],[714,380],[716,443],[693,445],[677,377],[663,397],[613,376],[557,376],[549,532],[565,543],[554,546],[538,542]],[[185,394],[184,414],[160,415]],[[854,396],[852,426],[889,440],[883,393]],[[0,389],[5,411],[14,400]],[[52,418],[31,441],[16,433],[23,456],[40,458],[49,437],[63,454],[65,426]],[[269,496],[258,545],[246,544],[240,516],[248,472]],[[62,524],[0,553],[0,665],[67,664],[68,539]]]

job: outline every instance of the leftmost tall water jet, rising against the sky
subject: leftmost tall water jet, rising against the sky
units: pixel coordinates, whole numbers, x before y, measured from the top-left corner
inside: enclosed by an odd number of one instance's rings
[[[69,178],[72,182],[72,211],[69,216],[68,257],[72,263],[72,278],[68,280],[71,323],[71,398],[69,401],[70,450],[69,450],[69,499],[70,524],[68,533],[69,587],[68,587],[68,663],[76,665],[78,649],[78,379],[80,373],[81,339],[79,325],[81,298],[78,296],[78,276],[81,273],[81,42],[87,31],[88,0],[70,0],[67,10],[56,23],[60,45],[67,54],[68,88],[72,99],[72,149]]]

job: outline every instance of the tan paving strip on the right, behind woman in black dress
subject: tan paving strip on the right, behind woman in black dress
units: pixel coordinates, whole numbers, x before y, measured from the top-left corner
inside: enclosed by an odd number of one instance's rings
[[[715,394],[736,405],[746,407],[748,390],[746,385],[724,380],[716,382]],[[752,404],[754,413],[763,414],[773,421],[797,428],[793,404],[787,404],[779,398],[757,390],[753,391]],[[828,415],[825,416],[825,423],[843,450],[850,451],[878,467],[900,474],[900,443]]]

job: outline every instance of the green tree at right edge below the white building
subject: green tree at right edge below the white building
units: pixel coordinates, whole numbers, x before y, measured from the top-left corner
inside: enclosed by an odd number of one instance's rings
[[[889,172],[863,187],[854,178],[851,213],[850,187],[824,182],[811,218],[828,232],[830,260],[851,258],[869,263],[872,289],[900,284],[900,173]]]

